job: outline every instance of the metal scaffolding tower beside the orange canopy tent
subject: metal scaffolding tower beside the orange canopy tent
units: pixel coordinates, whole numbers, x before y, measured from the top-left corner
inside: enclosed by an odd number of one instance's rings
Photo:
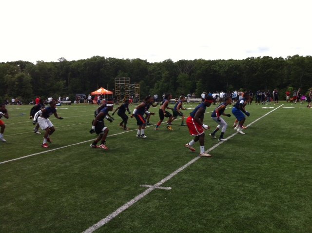
[[[130,84],[130,78],[115,78],[115,95],[118,102],[134,97],[136,103],[140,99],[140,83]]]

